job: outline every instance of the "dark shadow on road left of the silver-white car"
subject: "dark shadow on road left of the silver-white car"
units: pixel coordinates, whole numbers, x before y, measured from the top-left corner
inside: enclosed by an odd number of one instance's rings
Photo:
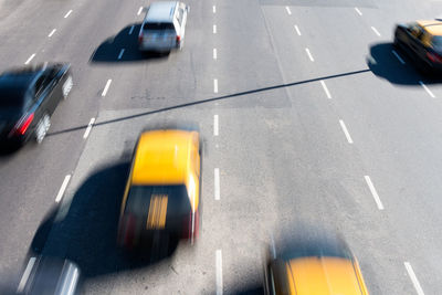
[[[167,59],[168,54],[145,53],[138,50],[140,28],[141,23],[133,23],[116,35],[106,39],[91,55],[90,63],[127,63]]]

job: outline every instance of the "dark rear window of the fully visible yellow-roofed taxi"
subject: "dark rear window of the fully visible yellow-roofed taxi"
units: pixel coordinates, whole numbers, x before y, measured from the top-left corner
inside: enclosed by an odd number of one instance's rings
[[[169,204],[185,206],[188,203],[188,194],[185,185],[177,186],[133,186],[130,187],[126,212],[144,217],[148,213],[146,208],[149,208],[150,200],[168,199]],[[186,202],[183,202],[186,201]]]

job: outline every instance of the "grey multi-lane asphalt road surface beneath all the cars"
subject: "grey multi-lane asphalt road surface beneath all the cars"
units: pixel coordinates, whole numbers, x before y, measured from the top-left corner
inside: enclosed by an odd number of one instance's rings
[[[442,2],[187,3],[185,48],[159,55],[137,51],[149,1],[0,0],[0,70],[35,54],[74,76],[43,143],[0,156],[0,293],[43,254],[74,261],[84,294],[262,294],[272,245],[336,233],[370,294],[440,294],[442,78],[402,63],[392,34]],[[199,240],[128,257],[115,239],[137,136],[183,125],[203,141]]]

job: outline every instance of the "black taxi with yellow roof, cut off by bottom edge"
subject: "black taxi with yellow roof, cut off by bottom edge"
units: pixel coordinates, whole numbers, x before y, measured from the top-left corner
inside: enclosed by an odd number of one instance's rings
[[[359,264],[340,240],[298,244],[269,259],[265,294],[368,295]]]

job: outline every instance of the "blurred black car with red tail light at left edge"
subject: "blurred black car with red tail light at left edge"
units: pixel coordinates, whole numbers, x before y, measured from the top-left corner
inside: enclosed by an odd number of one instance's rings
[[[14,69],[0,75],[0,145],[41,143],[51,115],[73,86],[69,64]]]

